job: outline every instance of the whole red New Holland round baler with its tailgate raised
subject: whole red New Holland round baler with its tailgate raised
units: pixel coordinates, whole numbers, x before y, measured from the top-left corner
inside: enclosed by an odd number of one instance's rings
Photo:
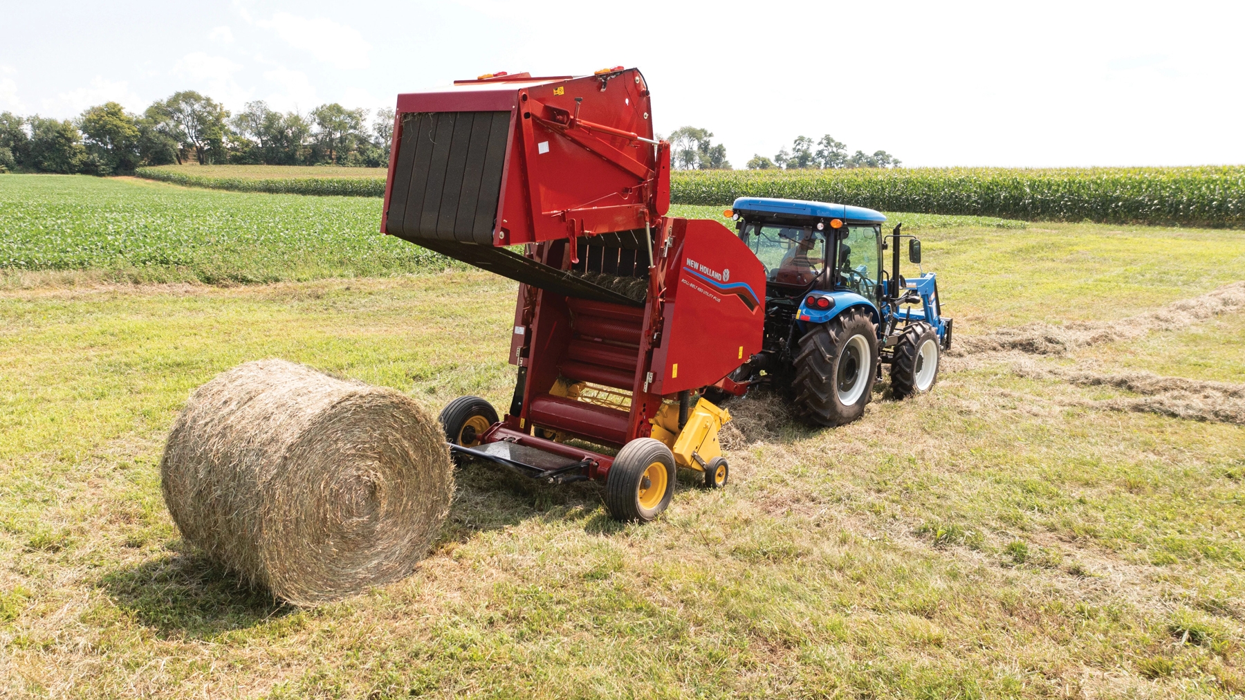
[[[520,283],[509,411],[447,406],[456,455],[548,483],[604,480],[624,519],[665,508],[676,463],[725,483],[716,433],[730,416],[692,399],[761,350],[764,278],[726,227],[669,206],[670,146],[652,138],[637,70],[398,96],[382,232]],[[715,343],[700,343],[710,326]],[[627,488],[635,507],[620,506]]]

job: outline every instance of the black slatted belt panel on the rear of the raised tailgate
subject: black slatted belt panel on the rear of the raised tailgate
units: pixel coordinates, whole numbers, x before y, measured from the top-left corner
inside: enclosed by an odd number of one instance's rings
[[[510,112],[402,115],[386,229],[491,245],[509,131]]]

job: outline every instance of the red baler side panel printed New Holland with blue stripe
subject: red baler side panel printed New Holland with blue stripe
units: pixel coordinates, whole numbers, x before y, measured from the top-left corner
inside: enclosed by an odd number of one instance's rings
[[[764,267],[730,229],[676,219],[675,242],[652,356],[654,385],[667,395],[715,384],[759,352],[766,318]]]

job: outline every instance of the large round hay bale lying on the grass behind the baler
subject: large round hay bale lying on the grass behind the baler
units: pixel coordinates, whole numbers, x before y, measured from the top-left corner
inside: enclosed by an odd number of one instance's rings
[[[190,396],[161,487],[188,542],[311,605],[410,574],[449,511],[453,472],[436,419],[410,397],[260,360]]]

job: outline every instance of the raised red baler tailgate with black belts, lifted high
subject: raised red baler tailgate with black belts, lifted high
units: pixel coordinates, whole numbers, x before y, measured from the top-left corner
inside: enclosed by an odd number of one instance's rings
[[[652,121],[635,69],[464,82],[398,96],[383,232],[454,254],[641,230],[665,213],[669,151],[640,141]]]

